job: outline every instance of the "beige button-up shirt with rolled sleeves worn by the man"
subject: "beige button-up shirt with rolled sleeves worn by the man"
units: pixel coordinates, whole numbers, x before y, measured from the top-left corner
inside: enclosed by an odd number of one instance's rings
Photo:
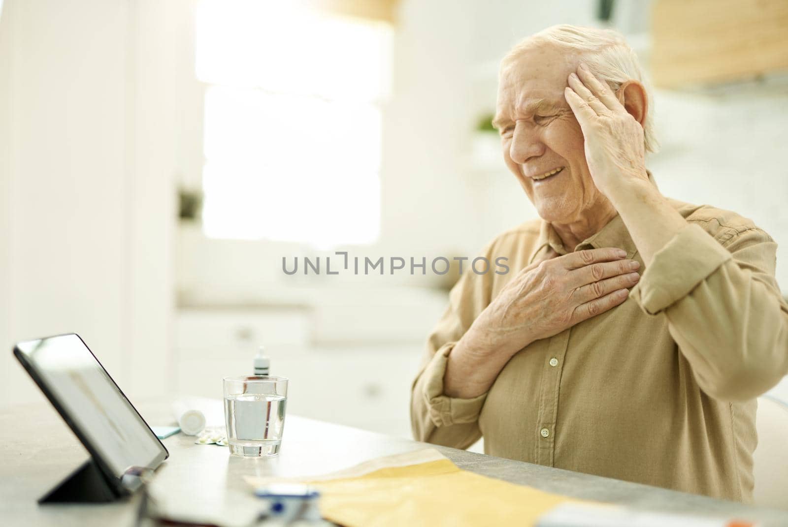
[[[484,255],[511,270],[466,272],[452,289],[413,385],[416,439],[466,448],[484,436],[490,455],[751,501],[754,398],[788,373],[777,246],[735,213],[671,203],[689,225],[645,270],[619,216],[574,247],[641,263],[626,302],[523,348],[489,392],[451,398],[456,341],[519,269],[548,247],[567,253],[544,221],[494,239]]]

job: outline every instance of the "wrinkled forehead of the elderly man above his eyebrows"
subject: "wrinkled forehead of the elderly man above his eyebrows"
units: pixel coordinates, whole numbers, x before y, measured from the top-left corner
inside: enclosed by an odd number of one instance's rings
[[[556,46],[534,45],[504,62],[498,78],[498,109],[512,109],[526,100],[563,101],[567,76],[577,69],[578,54]]]

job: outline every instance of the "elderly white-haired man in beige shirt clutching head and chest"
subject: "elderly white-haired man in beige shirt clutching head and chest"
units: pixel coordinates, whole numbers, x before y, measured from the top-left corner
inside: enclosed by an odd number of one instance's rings
[[[540,221],[465,273],[414,381],[418,440],[747,502],[757,395],[788,372],[776,244],[660,194],[649,92],[615,32],[556,26],[502,61],[504,161]]]

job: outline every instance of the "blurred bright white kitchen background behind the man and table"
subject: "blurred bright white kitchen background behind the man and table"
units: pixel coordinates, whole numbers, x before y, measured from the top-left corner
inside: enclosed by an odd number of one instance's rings
[[[42,399],[17,340],[78,332],[132,400],[221,397],[264,344],[291,413],[410,436],[450,280],[282,258],[473,258],[536,217],[489,119],[552,24],[626,35],[660,189],[753,218],[788,291],[785,2],[0,5],[0,404]]]

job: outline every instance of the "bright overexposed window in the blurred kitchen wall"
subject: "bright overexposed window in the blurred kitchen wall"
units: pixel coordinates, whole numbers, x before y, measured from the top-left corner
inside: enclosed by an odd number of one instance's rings
[[[203,228],[322,248],[374,242],[391,29],[282,4],[199,5]]]

